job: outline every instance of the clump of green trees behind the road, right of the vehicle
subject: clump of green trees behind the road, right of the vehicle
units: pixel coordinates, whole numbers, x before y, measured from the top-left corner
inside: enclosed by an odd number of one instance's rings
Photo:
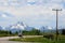
[[[30,31],[23,31],[23,35],[42,35],[42,32],[40,30],[37,29],[32,29]]]

